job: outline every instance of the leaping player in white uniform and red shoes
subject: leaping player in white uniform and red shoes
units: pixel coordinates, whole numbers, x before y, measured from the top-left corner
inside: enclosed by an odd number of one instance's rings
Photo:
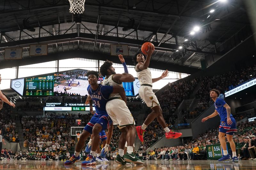
[[[171,138],[178,138],[182,135],[182,133],[173,132],[170,130],[164,121],[164,117],[162,114],[162,109],[159,105],[159,102],[156,98],[155,93],[152,89],[152,84],[155,83],[158,80],[161,80],[162,78],[168,76],[168,70],[165,70],[162,75],[159,78],[152,78],[151,72],[148,68],[150,63],[151,55],[153,54],[155,50],[155,47],[148,46],[147,58],[145,60],[145,57],[143,54],[138,53],[134,56],[133,60],[136,63],[135,71],[137,73],[138,79],[140,81],[140,89],[139,89],[139,95],[140,97],[145,101],[147,106],[152,109],[152,112],[148,115],[142,126],[137,126],[136,130],[138,133],[138,136],[140,138],[140,141],[143,142],[143,133],[146,131],[145,129],[148,127],[148,125],[154,121],[156,118],[157,121],[160,123],[160,125],[163,127],[165,131],[165,137],[167,139]]]

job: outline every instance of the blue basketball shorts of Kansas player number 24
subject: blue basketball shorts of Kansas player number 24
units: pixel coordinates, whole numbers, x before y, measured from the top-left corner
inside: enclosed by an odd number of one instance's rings
[[[94,114],[90,122],[88,122],[87,125],[84,127],[84,130],[92,134],[92,128],[96,123],[99,123],[102,126],[102,130],[105,130],[108,129],[108,126],[112,123],[112,120],[107,113],[99,115]]]

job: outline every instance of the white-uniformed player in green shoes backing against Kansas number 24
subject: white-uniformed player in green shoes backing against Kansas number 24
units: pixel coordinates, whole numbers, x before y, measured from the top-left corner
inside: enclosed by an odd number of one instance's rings
[[[124,61],[122,55],[119,56],[120,61]],[[125,65],[124,62],[122,62]],[[106,61],[100,67],[100,73],[105,77],[102,85],[121,86],[123,82],[133,82],[135,78],[128,73],[116,74],[115,69],[112,66],[112,62]],[[126,65],[125,65],[126,67]],[[128,72],[128,70],[127,70]],[[133,154],[133,144],[136,137],[136,127],[133,116],[128,109],[124,100],[117,93],[112,93],[109,96],[106,104],[106,111],[113,121],[113,125],[117,125],[121,130],[121,135],[118,142],[118,155],[116,156],[116,162],[122,165],[127,165],[127,162],[133,162],[135,164],[144,164],[143,160],[140,160]],[[125,142],[127,141],[127,152],[124,155]]]

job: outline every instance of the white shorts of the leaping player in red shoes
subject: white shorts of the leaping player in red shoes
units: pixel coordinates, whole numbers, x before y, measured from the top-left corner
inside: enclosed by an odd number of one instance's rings
[[[152,108],[159,105],[159,102],[156,98],[155,93],[153,92],[152,87],[141,85],[139,89],[139,95],[141,99],[145,101],[148,107]]]

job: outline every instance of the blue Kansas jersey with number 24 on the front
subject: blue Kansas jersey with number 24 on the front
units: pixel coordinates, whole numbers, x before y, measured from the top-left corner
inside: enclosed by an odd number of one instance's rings
[[[98,115],[107,113],[106,103],[108,101],[109,95],[113,92],[113,87],[99,85],[98,88],[94,91],[92,90],[91,85],[89,85],[87,87],[87,91],[92,98],[96,113]]]

